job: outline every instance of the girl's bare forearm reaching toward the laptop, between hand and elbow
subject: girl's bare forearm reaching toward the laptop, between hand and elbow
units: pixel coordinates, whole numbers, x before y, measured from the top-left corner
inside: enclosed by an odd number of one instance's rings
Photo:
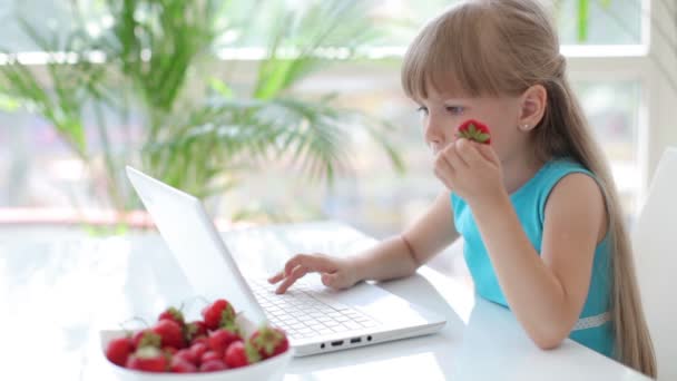
[[[391,237],[353,258],[359,280],[384,281],[412,275],[416,268],[459,237],[449,190],[400,236]]]

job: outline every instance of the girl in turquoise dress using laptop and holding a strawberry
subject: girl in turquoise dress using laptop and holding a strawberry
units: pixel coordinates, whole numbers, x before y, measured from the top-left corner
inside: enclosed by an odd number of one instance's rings
[[[538,346],[569,336],[655,377],[618,195],[565,68],[537,0],[468,1],[432,20],[402,84],[447,189],[401,235],[349,258],[296,255],[269,282],[284,293],[308,272],[333,289],[408,276],[462,235],[478,294]],[[457,137],[467,119],[490,127],[490,145]]]

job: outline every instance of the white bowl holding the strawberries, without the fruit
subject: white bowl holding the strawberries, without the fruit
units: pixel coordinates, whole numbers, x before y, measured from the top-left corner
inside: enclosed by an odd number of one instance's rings
[[[245,332],[248,332],[245,328]],[[151,373],[141,372],[114,364],[106,359],[106,346],[117,338],[127,334],[122,330],[100,331],[101,355],[104,361],[109,364],[118,379],[124,381],[278,381],[284,378],[285,369],[294,356],[294,349],[290,349],[274,358],[266,359],[252,365],[228,369],[217,372],[205,373]]]

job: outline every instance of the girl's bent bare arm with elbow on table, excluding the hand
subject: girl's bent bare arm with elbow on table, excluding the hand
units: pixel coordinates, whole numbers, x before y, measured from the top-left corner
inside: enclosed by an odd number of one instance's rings
[[[537,345],[555,348],[569,335],[588,294],[595,248],[606,234],[604,197],[587,175],[562,178],[546,204],[539,257],[502,190],[471,209],[516,318]]]

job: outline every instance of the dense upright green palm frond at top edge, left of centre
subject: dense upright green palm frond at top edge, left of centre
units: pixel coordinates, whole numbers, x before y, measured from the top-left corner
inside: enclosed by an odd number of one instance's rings
[[[98,41],[143,94],[148,107],[170,111],[189,69],[210,52],[216,18],[228,1],[107,0],[115,20]]]

